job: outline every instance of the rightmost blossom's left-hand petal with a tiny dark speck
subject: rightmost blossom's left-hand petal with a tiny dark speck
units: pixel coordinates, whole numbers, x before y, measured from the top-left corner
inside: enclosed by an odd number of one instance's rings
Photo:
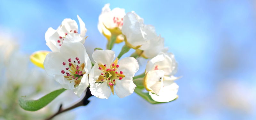
[[[164,86],[163,78],[163,70],[152,70],[148,73],[147,86],[152,89],[154,93],[158,94],[160,89]]]

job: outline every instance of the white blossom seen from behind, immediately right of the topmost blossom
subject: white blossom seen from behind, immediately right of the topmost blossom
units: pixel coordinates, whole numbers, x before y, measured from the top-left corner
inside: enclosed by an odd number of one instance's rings
[[[129,44],[136,47],[147,42],[147,34],[142,30],[144,28],[144,20],[140,16],[135,12],[128,12],[123,21],[122,33]]]

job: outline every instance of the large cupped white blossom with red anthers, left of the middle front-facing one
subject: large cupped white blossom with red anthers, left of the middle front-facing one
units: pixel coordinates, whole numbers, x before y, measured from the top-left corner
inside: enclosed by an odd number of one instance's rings
[[[91,68],[84,45],[79,42],[62,44],[60,52],[50,52],[44,60],[46,73],[54,76],[63,88],[73,90],[78,97],[89,85],[88,74]]]

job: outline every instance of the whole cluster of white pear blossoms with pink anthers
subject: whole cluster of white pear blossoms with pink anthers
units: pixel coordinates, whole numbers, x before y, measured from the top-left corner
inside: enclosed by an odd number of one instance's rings
[[[80,33],[75,20],[64,19],[54,30],[45,33],[46,45],[52,50],[44,60],[44,69],[49,76],[61,85],[72,90],[78,97],[88,88],[92,95],[108,99],[111,94],[124,98],[136,92],[142,85],[148,96],[157,102],[177,99],[179,86],[174,82],[177,62],[174,55],[164,47],[164,38],[156,34],[152,25],[145,25],[144,19],[134,11],[125,13],[122,8],[109,8],[105,4],[99,16],[98,29],[109,44],[124,42],[125,45],[115,57],[112,47],[98,49],[90,60],[84,42],[87,37],[85,23],[77,15]],[[131,57],[120,59],[130,48],[135,49]],[[134,83],[139,70],[138,57],[151,59],[140,77],[142,84]],[[92,61],[95,61],[93,63]],[[138,77],[136,77],[136,80]],[[137,93],[137,92],[136,92]]]

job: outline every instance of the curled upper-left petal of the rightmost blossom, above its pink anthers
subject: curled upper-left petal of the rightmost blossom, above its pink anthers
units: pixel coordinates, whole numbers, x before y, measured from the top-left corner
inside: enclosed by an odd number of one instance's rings
[[[150,61],[148,61],[148,64],[146,66],[146,72],[149,72],[150,70],[154,69],[156,62],[163,61],[164,59],[165,55],[163,52],[159,53],[156,57],[152,58]]]

